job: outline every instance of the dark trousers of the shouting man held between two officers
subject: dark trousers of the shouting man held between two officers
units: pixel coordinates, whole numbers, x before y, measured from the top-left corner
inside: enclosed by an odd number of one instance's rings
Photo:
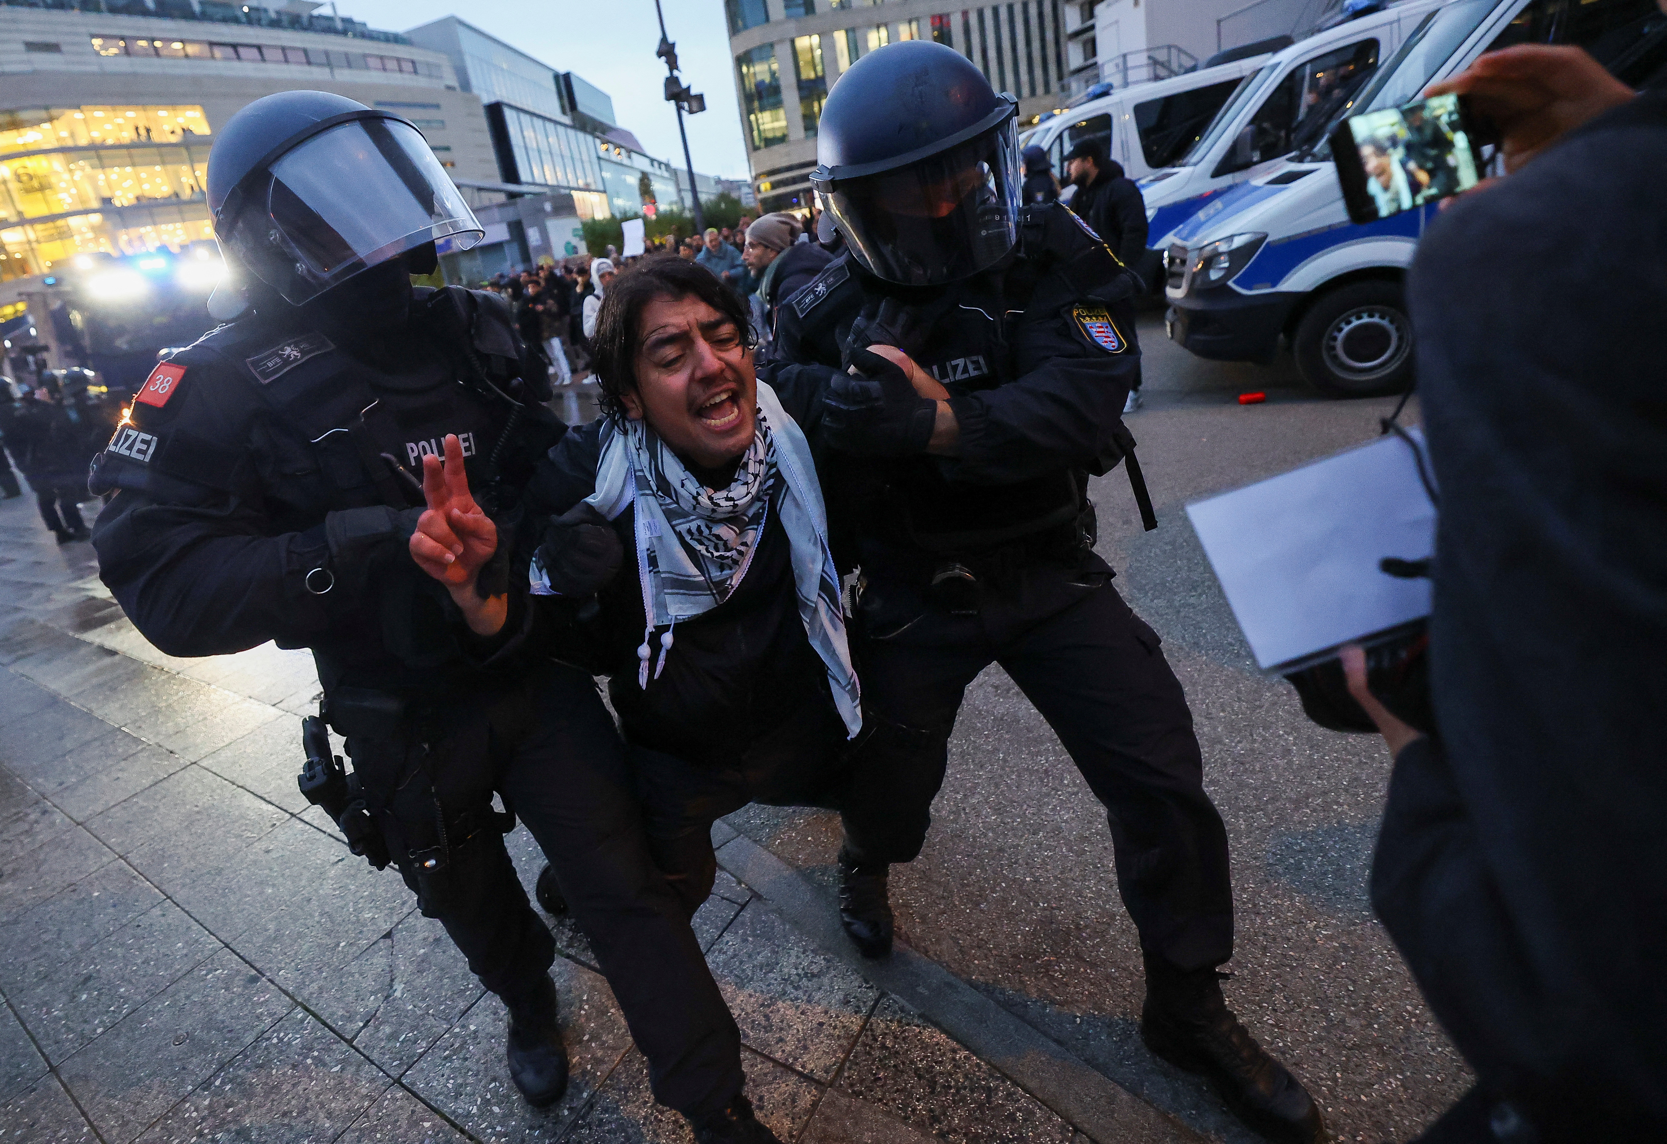
[[[688,917],[717,879],[712,824],[748,802],[844,810],[849,745],[832,705],[788,719],[717,767],[632,744],[632,779],[648,824],[648,847]],[[869,837],[862,814],[842,817],[847,837]]]

